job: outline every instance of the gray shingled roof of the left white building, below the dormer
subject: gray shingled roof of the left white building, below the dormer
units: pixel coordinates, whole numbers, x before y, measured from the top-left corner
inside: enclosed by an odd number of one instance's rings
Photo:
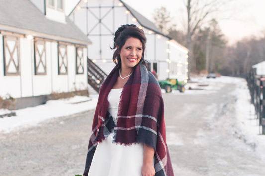
[[[66,23],[47,19],[29,0],[0,0],[0,24],[91,43],[66,17]]]

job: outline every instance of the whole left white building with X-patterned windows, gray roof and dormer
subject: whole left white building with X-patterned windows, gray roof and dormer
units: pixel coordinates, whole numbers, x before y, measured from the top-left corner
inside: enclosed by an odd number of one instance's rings
[[[0,0],[0,96],[23,108],[86,90],[90,43],[65,16],[64,0]]]

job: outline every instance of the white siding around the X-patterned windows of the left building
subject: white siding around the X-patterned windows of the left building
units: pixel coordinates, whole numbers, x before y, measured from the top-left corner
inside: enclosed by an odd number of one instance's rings
[[[46,41],[46,75],[34,75],[33,40],[20,38],[20,76],[4,76],[3,41],[0,35],[0,96],[14,98],[47,95],[87,89],[87,48],[84,48],[84,74],[76,75],[75,46],[68,45],[68,74],[58,75],[57,42]],[[75,86],[74,86],[75,85]]]

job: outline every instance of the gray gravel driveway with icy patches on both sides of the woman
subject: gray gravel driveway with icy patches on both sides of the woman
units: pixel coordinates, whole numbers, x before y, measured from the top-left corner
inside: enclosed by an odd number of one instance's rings
[[[265,176],[256,144],[238,134],[234,89],[235,84],[219,83],[199,94],[163,94],[176,176]],[[82,174],[93,114],[0,134],[0,176]]]

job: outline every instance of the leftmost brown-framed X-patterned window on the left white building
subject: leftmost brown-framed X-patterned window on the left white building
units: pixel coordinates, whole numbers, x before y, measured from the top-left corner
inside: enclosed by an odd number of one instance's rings
[[[4,75],[20,75],[19,38],[3,36]]]

